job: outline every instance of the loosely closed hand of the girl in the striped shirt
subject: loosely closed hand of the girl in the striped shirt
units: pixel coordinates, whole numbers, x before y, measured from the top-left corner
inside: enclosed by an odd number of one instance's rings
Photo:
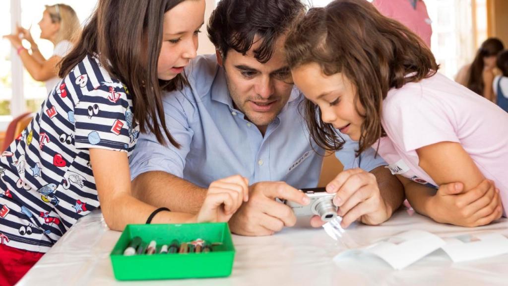
[[[248,200],[248,180],[240,175],[217,180],[210,184],[197,222],[226,222]]]

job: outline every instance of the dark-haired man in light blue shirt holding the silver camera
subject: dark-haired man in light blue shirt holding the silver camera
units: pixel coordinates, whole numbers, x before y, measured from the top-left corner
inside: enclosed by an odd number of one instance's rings
[[[297,188],[317,185],[324,154],[309,140],[304,97],[290,83],[283,54],[284,32],[304,11],[298,0],[219,2],[208,25],[217,54],[190,63],[190,87],[164,99],[180,149],[158,144],[151,134],[138,139],[131,157],[137,197],[195,213],[210,183],[240,174],[249,180],[249,197],[229,222],[232,232],[271,235],[294,225],[292,210],[275,198],[306,204]],[[348,170],[327,186],[337,192],[343,226],[382,223],[403,201],[402,186],[384,161],[373,150],[355,158],[357,147],[348,140],[337,152]],[[323,222],[315,216],[311,224]]]

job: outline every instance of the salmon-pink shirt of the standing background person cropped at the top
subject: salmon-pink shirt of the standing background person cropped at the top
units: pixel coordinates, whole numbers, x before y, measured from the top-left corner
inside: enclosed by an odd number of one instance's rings
[[[401,22],[415,32],[430,48],[432,21],[422,0],[417,1],[416,9],[409,0],[374,0],[372,4],[381,14]]]

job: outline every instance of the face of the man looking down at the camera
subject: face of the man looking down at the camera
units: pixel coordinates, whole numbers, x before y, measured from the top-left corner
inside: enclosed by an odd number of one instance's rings
[[[261,42],[257,40],[246,55],[229,50],[222,65],[236,108],[264,133],[288,102],[293,84],[283,52],[284,37],[277,40],[273,56],[266,64],[254,58],[253,51]]]

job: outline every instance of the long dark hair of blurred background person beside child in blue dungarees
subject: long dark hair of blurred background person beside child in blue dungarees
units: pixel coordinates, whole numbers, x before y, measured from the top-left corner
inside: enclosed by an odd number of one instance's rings
[[[483,96],[485,82],[483,82],[484,58],[497,56],[504,49],[503,43],[497,38],[489,38],[482,43],[477,55],[469,68],[466,87],[471,91]]]

